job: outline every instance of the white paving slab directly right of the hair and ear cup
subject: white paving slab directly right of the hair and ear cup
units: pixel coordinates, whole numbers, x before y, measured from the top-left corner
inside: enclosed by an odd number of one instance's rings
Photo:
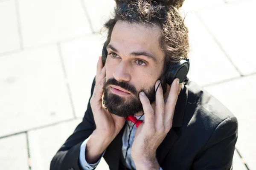
[[[240,76],[195,13],[187,15],[185,24],[189,29],[191,49],[189,79],[198,85],[207,85]]]

